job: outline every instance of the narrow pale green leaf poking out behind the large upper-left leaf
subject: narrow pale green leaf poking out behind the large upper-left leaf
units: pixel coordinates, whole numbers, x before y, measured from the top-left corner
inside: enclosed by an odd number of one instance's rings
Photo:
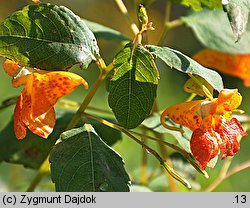
[[[106,27],[104,25],[98,24],[96,22],[91,22],[89,20],[83,20],[87,27],[94,33],[97,39],[105,40],[130,40],[128,37],[124,36],[120,32]]]

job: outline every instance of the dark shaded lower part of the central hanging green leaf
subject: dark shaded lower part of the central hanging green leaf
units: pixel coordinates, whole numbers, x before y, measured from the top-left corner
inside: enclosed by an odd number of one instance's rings
[[[136,128],[149,116],[156,97],[157,85],[135,80],[135,68],[109,83],[109,106],[118,123]]]

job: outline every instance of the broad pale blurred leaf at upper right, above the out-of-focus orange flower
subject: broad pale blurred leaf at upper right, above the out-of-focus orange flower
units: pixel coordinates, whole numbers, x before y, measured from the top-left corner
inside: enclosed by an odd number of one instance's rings
[[[192,13],[182,20],[191,27],[198,40],[206,48],[229,54],[250,53],[250,24],[241,40],[235,43],[235,37],[227,15],[221,10],[202,10]]]

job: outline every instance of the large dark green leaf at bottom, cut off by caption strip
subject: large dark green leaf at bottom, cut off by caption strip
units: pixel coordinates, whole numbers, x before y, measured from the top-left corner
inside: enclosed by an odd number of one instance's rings
[[[56,191],[129,191],[122,158],[91,125],[66,131],[61,138],[50,155]]]

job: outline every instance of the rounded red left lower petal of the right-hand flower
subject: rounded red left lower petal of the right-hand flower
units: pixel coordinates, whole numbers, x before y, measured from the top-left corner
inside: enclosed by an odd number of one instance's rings
[[[218,155],[219,148],[216,140],[217,134],[210,129],[196,129],[190,140],[191,152],[200,163],[200,168],[205,169],[207,163]]]

